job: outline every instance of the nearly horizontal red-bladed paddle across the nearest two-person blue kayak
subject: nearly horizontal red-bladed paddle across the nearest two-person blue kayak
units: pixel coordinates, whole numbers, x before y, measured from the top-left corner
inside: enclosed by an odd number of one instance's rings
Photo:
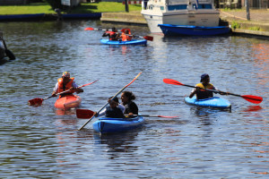
[[[88,119],[92,115],[94,115],[94,112],[89,109],[76,109],[76,117],[81,119]],[[178,116],[165,116],[165,115],[132,115],[126,117],[136,117],[136,116],[144,116],[144,117],[164,117],[164,118],[176,118]]]

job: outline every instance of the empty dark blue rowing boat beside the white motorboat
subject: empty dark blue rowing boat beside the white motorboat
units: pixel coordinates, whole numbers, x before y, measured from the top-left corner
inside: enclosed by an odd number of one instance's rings
[[[230,32],[230,28],[227,26],[204,27],[171,24],[159,24],[158,26],[165,36],[216,36]]]

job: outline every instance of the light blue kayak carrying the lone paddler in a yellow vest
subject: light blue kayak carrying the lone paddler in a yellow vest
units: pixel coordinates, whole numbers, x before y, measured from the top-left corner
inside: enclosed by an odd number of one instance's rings
[[[193,98],[184,98],[185,102],[188,105],[195,105],[198,107],[215,107],[215,108],[230,108],[230,101],[225,98],[213,97],[213,98],[204,98],[204,99],[196,99]]]

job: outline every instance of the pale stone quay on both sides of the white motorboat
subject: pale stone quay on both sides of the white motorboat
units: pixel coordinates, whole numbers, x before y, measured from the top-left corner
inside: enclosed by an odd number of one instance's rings
[[[269,11],[251,11],[250,21],[247,21],[245,17],[247,17],[247,13],[244,10],[220,10],[221,25],[230,25],[233,35],[269,37]],[[147,22],[143,19],[140,11],[132,13],[102,13],[100,21],[147,26]]]

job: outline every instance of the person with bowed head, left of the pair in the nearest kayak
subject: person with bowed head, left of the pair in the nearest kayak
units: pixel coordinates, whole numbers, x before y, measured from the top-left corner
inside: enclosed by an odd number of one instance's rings
[[[106,115],[106,117],[111,118],[125,118],[125,115],[123,114],[125,111],[125,107],[119,104],[117,97],[113,98],[113,100],[111,100],[111,98],[108,98],[109,107],[106,107],[99,114],[95,112],[94,115],[96,117]]]

